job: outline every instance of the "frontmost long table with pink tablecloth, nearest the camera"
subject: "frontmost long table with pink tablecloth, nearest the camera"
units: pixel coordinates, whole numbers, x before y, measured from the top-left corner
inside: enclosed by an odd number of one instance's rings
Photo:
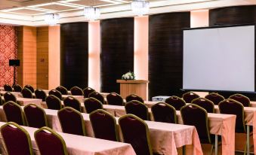
[[[5,123],[0,122],[0,126],[3,126]],[[35,154],[39,153],[39,148],[35,144],[34,132],[37,130],[36,128],[22,126],[29,132],[32,148]],[[113,155],[135,155],[134,149],[131,147],[131,144],[126,144],[122,142],[116,141],[106,141],[99,138],[91,138],[81,135],[72,135],[63,132],[57,132],[62,136],[66,143],[67,152],[71,155],[84,155],[84,154],[113,154]],[[7,151],[3,144],[2,135],[0,135],[3,154],[7,154]]]

